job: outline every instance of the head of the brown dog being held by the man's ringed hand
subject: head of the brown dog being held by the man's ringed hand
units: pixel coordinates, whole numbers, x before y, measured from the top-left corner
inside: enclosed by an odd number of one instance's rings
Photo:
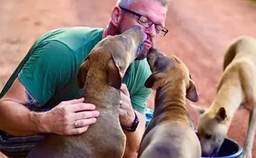
[[[83,88],[91,68],[101,66],[107,71],[108,84],[117,89],[122,85],[125,71],[144,48],[146,34],[139,26],[127,29],[122,34],[107,36],[100,41],[84,60],[78,72],[78,86]],[[97,73],[97,72],[95,72]]]

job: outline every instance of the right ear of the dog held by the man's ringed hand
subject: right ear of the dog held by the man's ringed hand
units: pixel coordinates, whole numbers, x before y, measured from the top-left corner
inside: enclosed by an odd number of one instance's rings
[[[108,61],[108,85],[120,89],[122,85],[122,73],[119,68],[119,61],[112,58]]]

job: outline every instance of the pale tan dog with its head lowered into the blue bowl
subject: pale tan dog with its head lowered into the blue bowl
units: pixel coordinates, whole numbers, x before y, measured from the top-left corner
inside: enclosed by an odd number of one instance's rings
[[[250,36],[232,41],[226,51],[223,75],[211,107],[207,110],[195,107],[203,113],[198,127],[202,155],[218,152],[240,106],[250,110],[243,157],[252,158],[256,128],[256,40]]]

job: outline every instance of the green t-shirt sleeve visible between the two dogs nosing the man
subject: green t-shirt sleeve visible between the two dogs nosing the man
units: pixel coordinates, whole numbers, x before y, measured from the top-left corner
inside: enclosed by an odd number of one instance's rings
[[[145,114],[147,100],[151,93],[151,89],[146,88],[144,86],[144,82],[146,82],[148,77],[151,75],[151,71],[146,61],[143,61],[143,62],[144,62],[143,64],[138,66],[138,70],[137,70],[138,73],[136,75],[137,90],[131,96],[131,103],[134,110],[137,110],[137,112]]]

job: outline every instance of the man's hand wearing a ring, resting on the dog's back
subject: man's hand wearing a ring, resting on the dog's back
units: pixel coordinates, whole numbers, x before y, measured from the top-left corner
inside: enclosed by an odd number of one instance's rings
[[[84,103],[84,98],[61,102],[40,119],[44,130],[59,135],[74,135],[86,132],[96,122],[100,113],[95,105]]]

